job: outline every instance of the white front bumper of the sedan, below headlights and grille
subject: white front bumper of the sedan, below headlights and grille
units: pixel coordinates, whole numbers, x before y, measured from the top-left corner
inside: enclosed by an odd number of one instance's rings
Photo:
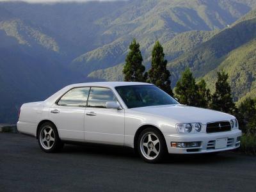
[[[242,132],[239,129],[226,132],[198,133],[198,134],[164,134],[169,154],[201,154],[209,152],[219,152],[223,150],[232,150],[240,147]],[[227,146],[215,148],[217,139],[227,138]],[[200,147],[177,148],[171,147],[172,142],[201,142]]]

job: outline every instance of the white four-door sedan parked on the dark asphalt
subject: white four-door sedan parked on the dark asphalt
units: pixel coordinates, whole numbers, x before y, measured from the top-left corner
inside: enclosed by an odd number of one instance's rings
[[[19,132],[45,152],[69,141],[131,147],[149,163],[164,154],[196,154],[240,146],[234,116],[179,104],[148,83],[72,84],[20,108]]]

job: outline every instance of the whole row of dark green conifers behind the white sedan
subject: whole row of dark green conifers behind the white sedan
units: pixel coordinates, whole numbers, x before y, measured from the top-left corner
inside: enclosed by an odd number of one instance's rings
[[[243,132],[256,133],[256,99],[247,98],[237,107],[227,81],[228,74],[223,70],[217,73],[215,91],[211,94],[204,79],[196,83],[195,77],[187,67],[177,81],[173,93],[171,74],[166,67],[167,60],[164,59],[163,46],[159,41],[156,41],[151,56],[151,67],[146,72],[140,44],[135,39],[132,40],[125,58],[124,81],[152,83],[176,97],[181,104],[230,113],[237,117]]]

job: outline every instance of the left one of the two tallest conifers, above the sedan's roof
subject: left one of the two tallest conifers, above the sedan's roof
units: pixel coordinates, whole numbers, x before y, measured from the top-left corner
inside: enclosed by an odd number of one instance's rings
[[[145,82],[147,73],[144,74],[145,66],[142,64],[143,58],[140,52],[140,44],[134,39],[129,49],[123,69],[124,81]]]

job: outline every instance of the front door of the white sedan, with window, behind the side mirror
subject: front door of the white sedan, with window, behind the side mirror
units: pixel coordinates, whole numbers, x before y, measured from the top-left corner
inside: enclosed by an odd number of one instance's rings
[[[107,109],[106,102],[116,97],[109,88],[92,87],[85,109],[85,140],[124,145],[124,109]]]

